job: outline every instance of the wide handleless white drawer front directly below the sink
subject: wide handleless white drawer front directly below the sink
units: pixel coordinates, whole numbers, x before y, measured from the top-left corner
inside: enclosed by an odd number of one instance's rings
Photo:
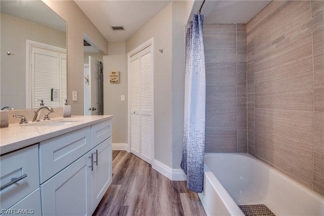
[[[90,149],[90,126],[39,143],[39,181],[41,184]]]

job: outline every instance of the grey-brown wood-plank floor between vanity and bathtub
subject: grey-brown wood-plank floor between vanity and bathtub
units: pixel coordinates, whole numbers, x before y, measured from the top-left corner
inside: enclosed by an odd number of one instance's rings
[[[93,215],[206,215],[186,181],[171,181],[126,151],[112,152],[112,183]]]

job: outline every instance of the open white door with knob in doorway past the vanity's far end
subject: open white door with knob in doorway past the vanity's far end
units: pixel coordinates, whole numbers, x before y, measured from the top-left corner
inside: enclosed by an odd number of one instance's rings
[[[103,74],[101,62],[89,56],[84,66],[85,115],[103,115]]]

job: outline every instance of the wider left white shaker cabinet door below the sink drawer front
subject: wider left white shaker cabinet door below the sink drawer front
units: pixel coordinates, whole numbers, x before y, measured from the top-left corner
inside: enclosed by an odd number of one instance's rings
[[[43,215],[91,215],[91,154],[41,185]]]

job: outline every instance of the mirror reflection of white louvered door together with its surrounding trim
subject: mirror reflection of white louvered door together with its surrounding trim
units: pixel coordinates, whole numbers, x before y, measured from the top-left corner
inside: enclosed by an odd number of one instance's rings
[[[27,40],[26,107],[62,107],[67,99],[66,50]]]

